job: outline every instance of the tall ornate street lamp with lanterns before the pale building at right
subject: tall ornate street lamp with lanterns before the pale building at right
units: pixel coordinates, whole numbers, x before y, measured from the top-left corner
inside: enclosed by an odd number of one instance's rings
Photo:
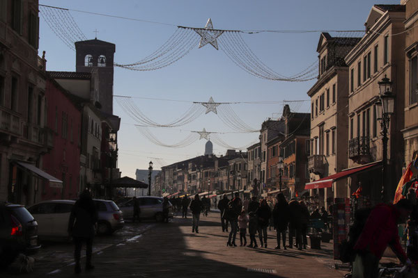
[[[385,202],[385,183],[387,182],[386,177],[386,165],[387,165],[387,130],[389,129],[390,116],[394,113],[395,109],[395,95],[392,94],[392,81],[390,81],[386,74],[382,81],[378,82],[379,84],[379,98],[380,104],[382,106],[382,118],[380,119],[380,126],[382,127],[382,145],[383,145],[383,154],[382,154],[382,202]]]

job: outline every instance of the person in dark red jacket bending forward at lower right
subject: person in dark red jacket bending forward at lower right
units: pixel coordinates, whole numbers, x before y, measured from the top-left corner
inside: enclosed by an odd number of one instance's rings
[[[388,245],[401,263],[407,261],[399,242],[398,224],[406,222],[411,211],[412,203],[407,199],[373,208],[354,246],[357,255],[353,262],[353,278],[377,278],[379,261]]]

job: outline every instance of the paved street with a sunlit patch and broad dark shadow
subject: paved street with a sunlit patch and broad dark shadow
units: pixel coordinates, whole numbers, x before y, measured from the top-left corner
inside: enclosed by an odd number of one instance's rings
[[[274,231],[268,248],[226,247],[219,213],[201,216],[199,234],[191,218],[170,223],[127,223],[114,236],[95,239],[93,272],[80,277],[342,277],[347,270],[332,266],[332,245],[322,250],[274,250]],[[247,237],[247,240],[249,238]],[[239,245],[239,238],[237,240]],[[1,277],[72,277],[72,245],[49,243],[35,256],[31,274],[14,263]]]

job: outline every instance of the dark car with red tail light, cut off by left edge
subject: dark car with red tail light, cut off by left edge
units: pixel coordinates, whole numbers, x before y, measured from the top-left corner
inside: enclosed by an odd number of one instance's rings
[[[18,254],[34,254],[39,248],[38,223],[31,213],[20,204],[0,204],[0,268]]]

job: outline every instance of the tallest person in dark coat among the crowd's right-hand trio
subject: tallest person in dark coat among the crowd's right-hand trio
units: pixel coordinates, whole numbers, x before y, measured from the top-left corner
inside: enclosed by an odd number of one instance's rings
[[[283,240],[283,247],[286,250],[286,231],[289,222],[289,205],[283,193],[277,194],[277,203],[273,208],[274,228],[277,231],[277,246],[280,249],[280,236]]]

